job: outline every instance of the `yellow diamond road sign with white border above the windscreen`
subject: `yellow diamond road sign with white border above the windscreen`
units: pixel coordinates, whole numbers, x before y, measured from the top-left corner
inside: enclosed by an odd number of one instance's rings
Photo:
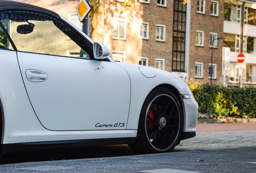
[[[81,22],[83,22],[83,20],[85,19],[85,16],[89,14],[90,11],[91,11],[91,4],[89,4],[89,2],[87,2],[86,0],[78,1],[76,12]]]

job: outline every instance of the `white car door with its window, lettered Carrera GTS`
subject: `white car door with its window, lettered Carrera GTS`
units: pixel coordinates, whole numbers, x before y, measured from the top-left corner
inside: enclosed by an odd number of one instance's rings
[[[23,22],[23,15],[33,15],[32,20]],[[95,60],[88,40],[62,21],[35,12],[19,16],[19,21],[10,22],[10,35],[41,125],[52,131],[126,129],[128,73],[114,62]],[[33,31],[24,34],[32,24]],[[86,53],[80,53],[81,47]]]

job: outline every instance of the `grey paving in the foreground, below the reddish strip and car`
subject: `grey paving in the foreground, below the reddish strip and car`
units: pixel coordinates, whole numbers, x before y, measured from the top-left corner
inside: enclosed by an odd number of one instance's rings
[[[201,132],[171,153],[3,164],[0,172],[256,173],[255,134],[256,130]],[[127,145],[119,147],[128,151]]]

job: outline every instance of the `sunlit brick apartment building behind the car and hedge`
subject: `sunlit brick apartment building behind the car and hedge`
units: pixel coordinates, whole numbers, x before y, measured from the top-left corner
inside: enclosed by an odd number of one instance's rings
[[[76,14],[78,0],[15,1],[53,10],[82,28]],[[92,29],[98,29],[92,37],[106,44],[115,60],[160,68],[186,81],[192,78],[210,82],[212,72],[213,84],[221,84],[222,48],[227,46],[231,48],[231,64],[225,73],[231,78],[230,84],[236,85],[239,80],[235,66],[239,47],[236,46],[244,2],[246,69],[243,80],[245,84],[256,84],[255,1],[240,0],[230,5],[219,0],[190,0],[187,4],[183,4],[183,0],[134,0],[131,7],[124,10],[124,0],[104,0],[98,5],[102,9],[96,16],[97,24],[92,24]],[[89,34],[90,31],[89,27]],[[212,42],[223,36],[225,39]],[[75,52],[67,56],[75,56]]]

